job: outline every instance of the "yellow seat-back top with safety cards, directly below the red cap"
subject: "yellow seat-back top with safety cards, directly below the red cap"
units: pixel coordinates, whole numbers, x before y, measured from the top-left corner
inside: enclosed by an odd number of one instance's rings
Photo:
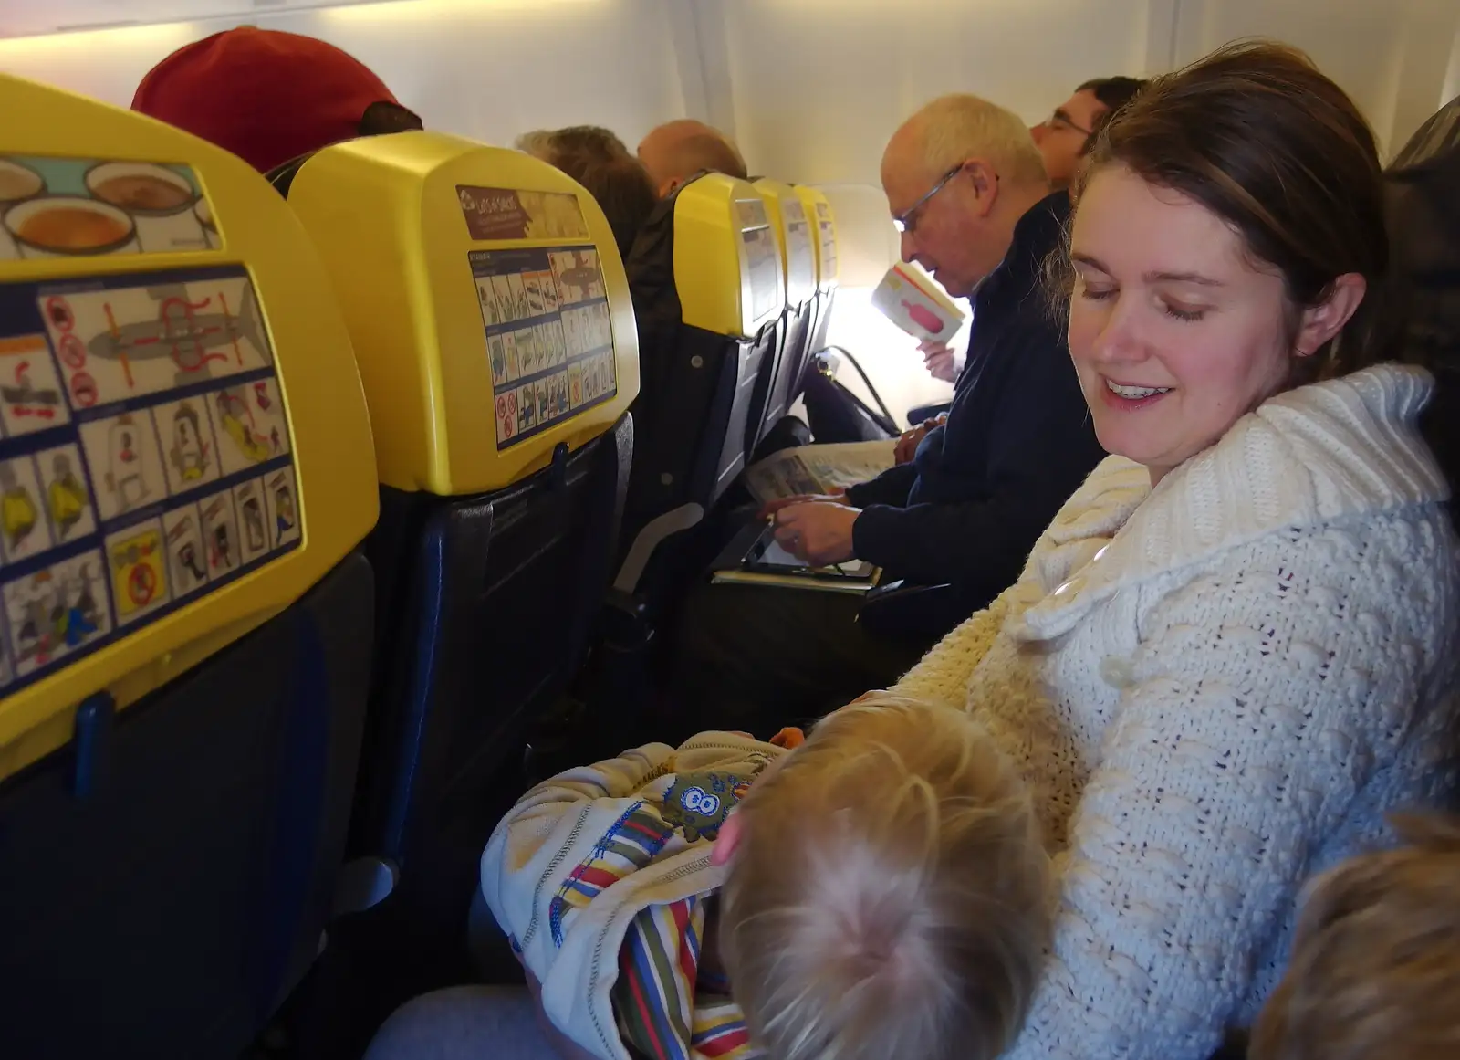
[[[613,232],[546,162],[445,133],[377,136],[305,162],[289,204],[355,340],[383,483],[499,489],[638,396]]]

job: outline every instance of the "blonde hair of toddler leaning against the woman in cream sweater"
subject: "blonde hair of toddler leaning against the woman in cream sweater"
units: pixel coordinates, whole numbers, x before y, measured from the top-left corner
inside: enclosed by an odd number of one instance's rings
[[[1013,767],[962,711],[875,694],[737,810],[721,953],[771,1060],[980,1060],[1013,1040],[1048,860]]]

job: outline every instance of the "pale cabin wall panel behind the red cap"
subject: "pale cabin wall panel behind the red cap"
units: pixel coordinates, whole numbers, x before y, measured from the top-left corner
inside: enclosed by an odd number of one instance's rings
[[[6,3],[32,0],[6,0]],[[631,146],[685,114],[670,0],[404,0],[164,26],[0,39],[0,70],[128,107],[175,48],[248,23],[305,34],[380,74],[426,126],[510,145],[602,124]]]

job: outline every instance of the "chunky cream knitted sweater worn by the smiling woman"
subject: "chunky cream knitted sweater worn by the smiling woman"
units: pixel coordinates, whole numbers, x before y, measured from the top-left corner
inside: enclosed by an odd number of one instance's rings
[[[1378,366],[1244,416],[1150,489],[1111,457],[1021,581],[896,691],[977,711],[1056,854],[1012,1060],[1206,1060],[1286,958],[1298,888],[1456,780],[1457,543]]]

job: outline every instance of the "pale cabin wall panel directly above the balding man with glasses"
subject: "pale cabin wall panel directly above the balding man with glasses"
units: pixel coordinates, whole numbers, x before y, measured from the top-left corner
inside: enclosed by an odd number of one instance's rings
[[[740,146],[818,184],[876,185],[888,137],[945,92],[1038,121],[1080,80],[1146,64],[1148,0],[718,1]]]

